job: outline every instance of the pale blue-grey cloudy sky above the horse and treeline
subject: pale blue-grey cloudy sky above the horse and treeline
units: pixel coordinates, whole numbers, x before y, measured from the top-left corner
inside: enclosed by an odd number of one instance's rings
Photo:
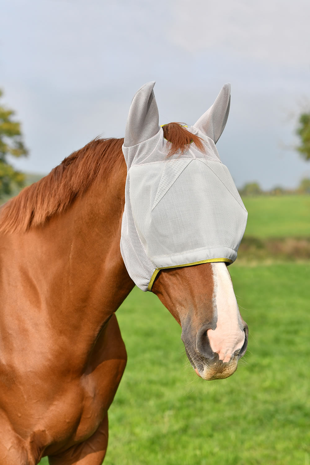
[[[309,0],[2,0],[0,88],[48,173],[96,136],[123,137],[133,95],[156,80],[160,124],[193,124],[231,83],[218,151],[238,187],[294,188],[310,109]]]

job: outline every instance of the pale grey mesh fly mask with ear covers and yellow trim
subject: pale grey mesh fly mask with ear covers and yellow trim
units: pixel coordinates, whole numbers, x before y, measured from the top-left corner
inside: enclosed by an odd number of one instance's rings
[[[127,163],[120,250],[126,269],[143,291],[162,268],[208,261],[232,263],[247,211],[216,141],[230,106],[225,84],[211,108],[187,130],[203,141],[168,157],[171,144],[158,126],[154,82],[132,100],[123,153]]]

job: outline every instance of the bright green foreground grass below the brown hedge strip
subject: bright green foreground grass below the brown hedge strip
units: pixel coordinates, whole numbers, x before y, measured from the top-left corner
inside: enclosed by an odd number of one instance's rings
[[[196,376],[178,324],[150,292],[135,288],[119,309],[128,364],[105,465],[309,465],[310,265],[230,271],[250,328],[231,378]]]

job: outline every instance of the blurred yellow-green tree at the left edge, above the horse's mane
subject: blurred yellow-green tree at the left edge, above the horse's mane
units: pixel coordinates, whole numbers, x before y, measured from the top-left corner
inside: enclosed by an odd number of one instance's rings
[[[23,157],[28,154],[20,123],[13,120],[14,114],[13,110],[0,105],[0,198],[11,195],[14,187],[24,185],[24,174],[16,171],[8,159],[9,156]]]

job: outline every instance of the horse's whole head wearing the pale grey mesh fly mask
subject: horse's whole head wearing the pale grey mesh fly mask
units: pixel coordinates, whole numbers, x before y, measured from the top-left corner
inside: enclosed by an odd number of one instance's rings
[[[215,145],[230,85],[193,126],[159,126],[154,84],[135,94],[126,124],[121,253],[135,284],[157,294],[181,325],[196,373],[226,378],[248,340],[227,268],[247,212]]]

